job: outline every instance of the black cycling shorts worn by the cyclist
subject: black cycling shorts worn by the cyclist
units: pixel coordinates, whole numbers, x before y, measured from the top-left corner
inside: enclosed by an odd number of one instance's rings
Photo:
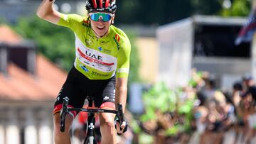
[[[110,79],[88,79],[72,67],[68,77],[55,99],[53,113],[62,109],[63,99],[69,98],[68,107],[82,108],[85,98],[91,96],[96,107],[114,109],[115,76]],[[77,113],[71,113],[75,117]]]

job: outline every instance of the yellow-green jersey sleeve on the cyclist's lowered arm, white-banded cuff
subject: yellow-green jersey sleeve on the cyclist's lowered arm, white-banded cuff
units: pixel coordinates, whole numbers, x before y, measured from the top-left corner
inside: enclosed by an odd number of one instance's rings
[[[129,56],[131,52],[131,44],[127,38],[122,43],[117,55],[117,78],[128,77],[129,74]]]

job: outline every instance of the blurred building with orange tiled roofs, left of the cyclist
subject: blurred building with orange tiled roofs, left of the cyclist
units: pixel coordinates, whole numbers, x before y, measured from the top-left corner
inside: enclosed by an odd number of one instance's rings
[[[66,73],[0,26],[0,144],[53,143],[53,104]]]

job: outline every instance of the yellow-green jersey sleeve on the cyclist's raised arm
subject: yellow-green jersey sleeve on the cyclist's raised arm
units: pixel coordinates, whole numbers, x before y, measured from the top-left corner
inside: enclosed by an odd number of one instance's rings
[[[58,21],[58,26],[65,26],[70,28],[71,30],[75,31],[75,28],[78,28],[79,25],[84,21],[82,16],[78,14],[60,14],[60,21]]]

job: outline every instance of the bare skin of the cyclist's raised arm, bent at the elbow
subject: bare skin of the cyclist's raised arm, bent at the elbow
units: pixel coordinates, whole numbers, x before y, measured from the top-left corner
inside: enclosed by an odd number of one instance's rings
[[[55,0],[43,0],[36,11],[36,15],[50,23],[58,23],[60,20],[60,13],[53,9]]]

